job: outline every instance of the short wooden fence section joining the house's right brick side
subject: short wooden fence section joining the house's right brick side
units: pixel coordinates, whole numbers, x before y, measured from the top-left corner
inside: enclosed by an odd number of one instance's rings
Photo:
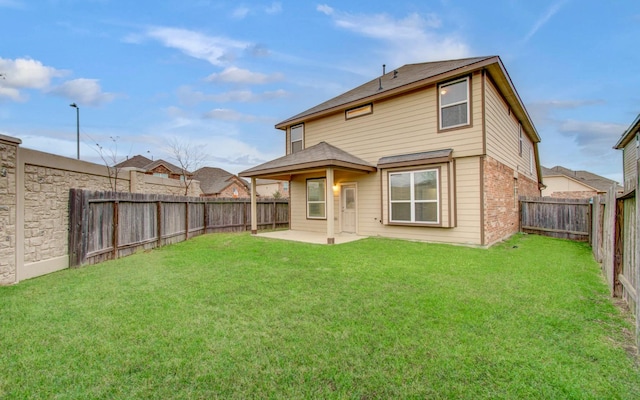
[[[590,242],[591,199],[521,196],[520,231]]]

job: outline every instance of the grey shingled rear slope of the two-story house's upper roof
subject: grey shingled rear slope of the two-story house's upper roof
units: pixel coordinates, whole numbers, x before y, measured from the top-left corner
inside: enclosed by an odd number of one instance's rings
[[[288,122],[295,121],[316,113],[321,113],[333,108],[339,108],[349,103],[364,101],[368,97],[381,93],[392,92],[394,89],[402,88],[419,81],[438,76],[440,74],[462,69],[482,61],[497,58],[496,56],[473,57],[460,60],[435,61],[420,64],[407,64],[396,70],[391,70],[380,78],[375,78],[355,89],[349,90],[337,97],[318,104],[306,111],[296,114],[276,125],[277,128],[286,126]],[[397,74],[396,74],[397,71]],[[394,77],[395,76],[395,77]],[[380,89],[382,87],[382,89]]]

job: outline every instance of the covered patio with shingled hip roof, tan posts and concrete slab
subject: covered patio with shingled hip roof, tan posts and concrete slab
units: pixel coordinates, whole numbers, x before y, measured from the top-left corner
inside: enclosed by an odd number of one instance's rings
[[[296,240],[294,239],[296,236],[306,237],[310,243],[318,243],[318,240],[320,240],[321,243],[326,244],[344,243],[345,241],[357,240],[360,238],[357,235],[345,233],[339,233],[339,235],[336,235],[334,224],[336,212],[334,210],[333,201],[335,171],[369,174],[376,172],[377,167],[326,142],[320,142],[314,146],[240,172],[240,176],[251,178],[251,233],[253,235],[258,234],[257,218],[255,217],[257,215],[256,179],[261,178],[291,181],[292,177],[295,175],[321,172],[324,174],[327,182],[325,187],[326,234],[306,232],[304,230],[300,230],[300,227],[295,227],[296,230],[288,231],[290,232],[287,234],[288,237],[291,238],[290,240]],[[289,210],[293,207],[306,207],[306,205],[294,204],[293,199],[291,199]],[[269,234],[285,238],[285,234],[282,232],[287,231],[270,232]],[[304,235],[302,232],[304,232]],[[260,235],[264,236],[267,234]],[[352,238],[353,236],[356,238]]]

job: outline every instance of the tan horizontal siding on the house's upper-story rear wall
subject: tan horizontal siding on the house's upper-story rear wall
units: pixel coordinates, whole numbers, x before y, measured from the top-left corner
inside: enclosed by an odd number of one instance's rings
[[[373,104],[373,113],[344,113],[305,124],[305,147],[325,141],[372,164],[380,157],[452,148],[454,157],[482,153],[481,82],[472,79],[473,126],[437,132],[436,86]],[[402,139],[399,140],[398,138]]]

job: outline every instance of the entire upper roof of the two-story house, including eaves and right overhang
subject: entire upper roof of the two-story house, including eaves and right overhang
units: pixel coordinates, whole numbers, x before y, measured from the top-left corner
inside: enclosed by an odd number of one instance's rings
[[[392,70],[379,78],[375,78],[363,85],[349,90],[337,97],[329,99],[306,111],[294,115],[278,124],[277,129],[286,130],[288,126],[324,115],[339,112],[344,109],[366,104],[421,87],[434,85],[445,79],[468,74],[472,71],[486,68],[505,100],[513,108],[514,113],[522,121],[525,131],[535,143],[540,141],[533,122],[518,95],[511,78],[502,65],[498,56],[464,58],[460,60],[434,61],[420,64],[407,64]]]

